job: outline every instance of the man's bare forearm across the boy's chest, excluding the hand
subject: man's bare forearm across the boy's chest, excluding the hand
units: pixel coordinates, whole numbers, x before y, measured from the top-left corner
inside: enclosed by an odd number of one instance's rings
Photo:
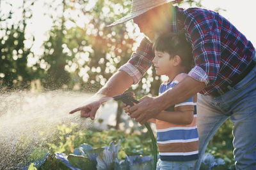
[[[165,110],[170,106],[182,103],[189,97],[194,96],[197,92],[204,89],[204,87],[204,82],[196,81],[187,76],[172,89],[169,89],[161,94],[161,96],[156,97],[155,102],[157,103],[159,110]]]

